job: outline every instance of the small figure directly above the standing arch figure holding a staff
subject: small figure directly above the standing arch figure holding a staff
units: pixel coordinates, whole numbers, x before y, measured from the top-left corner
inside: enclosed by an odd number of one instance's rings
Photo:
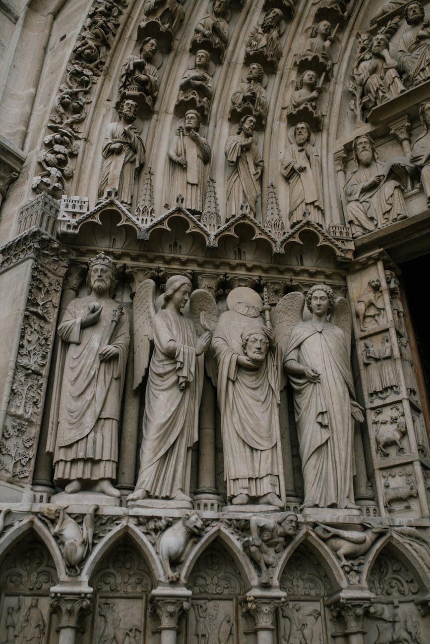
[[[207,118],[211,107],[212,77],[208,73],[210,53],[199,49],[195,54],[194,67],[186,70],[179,83],[175,114],[183,117],[188,109],[197,109],[202,118]]]

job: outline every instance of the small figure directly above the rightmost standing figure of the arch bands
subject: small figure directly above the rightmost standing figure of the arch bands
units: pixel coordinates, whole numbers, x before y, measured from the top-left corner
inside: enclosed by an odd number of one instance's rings
[[[322,82],[318,82],[315,71],[306,70],[302,73],[287,108],[290,125],[306,121],[311,128],[317,131],[322,128],[322,114],[317,108],[317,101],[322,89]]]

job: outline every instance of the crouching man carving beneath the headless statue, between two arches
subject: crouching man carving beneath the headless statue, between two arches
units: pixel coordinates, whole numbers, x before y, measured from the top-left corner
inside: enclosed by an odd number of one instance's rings
[[[242,547],[260,567],[260,585],[269,586],[268,567],[275,564],[277,554],[286,545],[286,538],[297,533],[297,516],[284,514],[276,520],[268,516],[251,516],[249,530],[251,537],[242,541]]]

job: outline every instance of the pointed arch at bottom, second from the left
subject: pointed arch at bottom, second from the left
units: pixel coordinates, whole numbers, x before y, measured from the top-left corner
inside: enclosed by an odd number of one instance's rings
[[[84,565],[81,578],[89,580],[97,570],[98,565],[103,561],[104,556],[106,556],[115,544],[119,544],[124,537],[129,537],[133,544],[137,546],[139,554],[142,554],[148,565],[148,571],[151,575],[153,585],[156,586],[157,581],[166,583],[166,575],[164,574],[155,549],[148,538],[142,535],[141,531],[133,526],[133,524],[120,524],[97,544]]]

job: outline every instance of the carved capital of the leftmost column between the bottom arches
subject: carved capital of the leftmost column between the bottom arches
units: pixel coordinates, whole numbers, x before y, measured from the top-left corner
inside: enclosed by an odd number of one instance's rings
[[[63,587],[51,589],[50,609],[58,612],[60,623],[58,644],[75,644],[76,632],[81,628],[81,620],[91,609],[91,589],[88,592],[66,592]]]

